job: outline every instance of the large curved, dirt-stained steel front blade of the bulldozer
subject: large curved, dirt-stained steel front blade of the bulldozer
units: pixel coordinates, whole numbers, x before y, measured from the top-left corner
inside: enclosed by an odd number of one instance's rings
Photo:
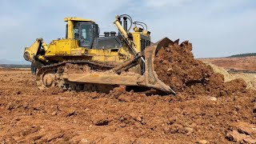
[[[145,58],[145,73],[141,78],[138,79],[138,85],[163,90],[170,94],[176,94],[174,90],[170,88],[170,86],[167,86],[158,78],[158,74],[156,74],[154,71],[155,54],[162,47],[169,46],[171,42],[172,41],[169,38],[163,38],[162,40],[158,41],[156,45],[147,46],[144,52],[142,52],[142,55]]]

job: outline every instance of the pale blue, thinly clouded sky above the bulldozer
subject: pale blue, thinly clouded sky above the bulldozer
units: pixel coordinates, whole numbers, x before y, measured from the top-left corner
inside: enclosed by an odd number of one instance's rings
[[[189,40],[195,58],[256,52],[254,0],[0,0],[0,59],[23,60],[36,38],[64,38],[66,17],[92,19],[103,33],[117,31],[121,14],[146,22],[152,42]]]

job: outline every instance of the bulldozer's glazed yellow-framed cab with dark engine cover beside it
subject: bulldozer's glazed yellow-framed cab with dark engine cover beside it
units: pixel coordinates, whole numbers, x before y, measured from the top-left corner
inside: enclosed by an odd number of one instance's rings
[[[116,32],[106,32],[99,36],[98,24],[82,18],[65,18],[66,38],[78,40],[80,47],[87,49],[118,49],[122,47],[122,36]]]

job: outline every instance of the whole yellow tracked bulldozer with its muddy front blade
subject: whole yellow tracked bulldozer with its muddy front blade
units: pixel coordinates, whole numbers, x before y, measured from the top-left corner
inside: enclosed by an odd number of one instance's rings
[[[118,34],[111,31],[102,36],[98,24],[90,19],[64,21],[66,38],[49,45],[37,38],[25,48],[23,57],[31,62],[39,89],[58,86],[63,90],[107,93],[115,86],[130,86],[175,94],[154,71],[155,54],[170,40],[163,38],[152,44],[144,22],[133,22],[127,14],[118,15],[114,19]]]

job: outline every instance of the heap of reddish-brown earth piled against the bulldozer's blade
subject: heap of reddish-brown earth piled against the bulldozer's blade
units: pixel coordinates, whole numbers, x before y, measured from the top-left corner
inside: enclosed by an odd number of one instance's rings
[[[178,44],[176,40],[158,50],[154,66],[158,78],[176,92],[221,96],[246,89],[244,80],[224,82],[222,74],[214,73],[212,67],[194,59],[192,44],[188,41]]]

